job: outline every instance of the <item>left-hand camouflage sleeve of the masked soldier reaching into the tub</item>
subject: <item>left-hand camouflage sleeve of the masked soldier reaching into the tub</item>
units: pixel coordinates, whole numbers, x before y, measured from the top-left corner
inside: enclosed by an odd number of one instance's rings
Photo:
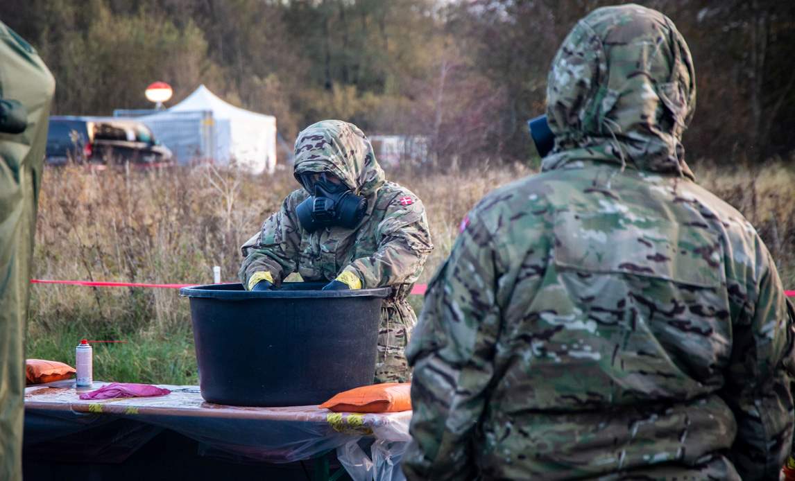
[[[301,227],[295,208],[305,197],[301,190],[289,194],[281,209],[262,225],[258,240],[243,246],[245,260],[240,267],[240,282],[246,289],[254,272],[268,271],[273,276],[273,283],[279,284],[296,271]]]

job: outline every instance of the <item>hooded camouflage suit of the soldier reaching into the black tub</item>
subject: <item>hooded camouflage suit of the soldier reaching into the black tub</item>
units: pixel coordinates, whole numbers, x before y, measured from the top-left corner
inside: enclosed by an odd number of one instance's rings
[[[392,287],[381,310],[377,382],[407,382],[405,344],[417,322],[406,297],[431,252],[425,207],[416,195],[387,182],[370,140],[353,124],[320,121],[298,134],[294,175],[326,172],[367,199],[355,229],[330,227],[308,233],[296,207],[311,193],[302,188],[285,198],[262,230],[242,247],[240,279],[246,288],[260,279],[279,284],[291,272],[304,281],[332,281],[347,287]],[[343,320],[340,320],[343,321]]]

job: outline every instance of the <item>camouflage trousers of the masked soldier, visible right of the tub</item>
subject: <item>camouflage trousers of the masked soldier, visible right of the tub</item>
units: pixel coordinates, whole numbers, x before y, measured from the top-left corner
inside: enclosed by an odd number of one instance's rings
[[[375,361],[376,383],[408,383],[411,380],[405,346],[417,316],[406,299],[386,299],[381,308],[378,327],[378,358]]]

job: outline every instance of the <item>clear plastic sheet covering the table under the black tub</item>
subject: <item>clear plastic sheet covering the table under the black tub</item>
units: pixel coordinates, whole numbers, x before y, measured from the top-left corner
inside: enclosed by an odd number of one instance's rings
[[[96,382],[94,389],[107,383]],[[171,394],[153,398],[82,400],[74,381],[25,388],[25,446],[94,429],[119,419],[172,429],[199,441],[214,456],[289,463],[336,449],[351,478],[404,479],[400,460],[408,445],[411,411],[386,414],[333,413],[318,406],[246,407],[206,402],[197,386],[157,385]],[[152,429],[112,433],[134,451]],[[362,438],[372,441],[370,453]],[[93,440],[96,442],[96,440]],[[110,440],[108,440],[110,441]]]

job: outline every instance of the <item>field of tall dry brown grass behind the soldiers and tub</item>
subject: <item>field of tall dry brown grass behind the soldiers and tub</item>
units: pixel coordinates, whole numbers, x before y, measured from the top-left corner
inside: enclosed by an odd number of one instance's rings
[[[781,163],[753,170],[704,166],[696,170],[705,187],[756,225],[778,261],[785,286],[795,288],[793,170]],[[461,219],[479,198],[531,173],[521,166],[388,173],[390,179],[413,190],[428,212],[436,248],[420,282],[427,282],[448,255]],[[223,280],[236,280],[240,244],[297,185],[287,169],[273,176],[251,176],[213,167],[146,172],[48,168],[41,190],[34,276],[211,283],[212,267],[218,265]],[[419,306],[421,299],[414,301]],[[77,337],[74,342],[91,336],[162,343],[176,336],[180,337],[180,356],[188,365],[192,362],[189,325],[188,302],[175,290],[36,284],[29,355],[37,349],[44,351],[42,356],[64,351],[72,340],[47,341],[64,333]],[[68,360],[68,356],[61,357]],[[153,356],[145,369],[151,369],[153,360],[164,354]],[[190,371],[183,364],[170,369]],[[144,375],[130,373],[135,376]]]

